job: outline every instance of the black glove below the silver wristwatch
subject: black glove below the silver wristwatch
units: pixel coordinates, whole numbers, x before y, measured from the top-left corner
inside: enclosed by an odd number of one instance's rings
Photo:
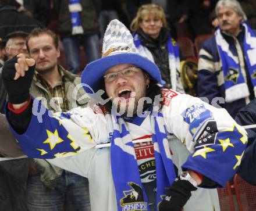
[[[191,191],[196,189],[189,181],[176,178],[172,186],[167,189],[167,194],[163,201],[159,203],[159,211],[182,210],[191,196]]]

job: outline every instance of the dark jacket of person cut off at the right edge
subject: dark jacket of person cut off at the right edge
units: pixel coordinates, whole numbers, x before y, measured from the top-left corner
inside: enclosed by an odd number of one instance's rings
[[[256,98],[239,110],[236,121],[240,125],[256,124]],[[237,173],[248,183],[256,185],[256,128],[246,130],[248,144]]]

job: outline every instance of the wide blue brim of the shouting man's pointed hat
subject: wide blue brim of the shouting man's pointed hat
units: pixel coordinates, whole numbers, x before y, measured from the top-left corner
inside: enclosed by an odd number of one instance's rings
[[[160,71],[151,60],[137,55],[136,53],[118,53],[106,56],[89,63],[83,70],[81,75],[81,83],[87,84],[83,86],[87,93],[93,94],[99,90],[99,81],[103,77],[106,70],[114,65],[131,64],[140,67],[146,71],[152,78],[162,84]],[[92,88],[92,90],[90,89]]]

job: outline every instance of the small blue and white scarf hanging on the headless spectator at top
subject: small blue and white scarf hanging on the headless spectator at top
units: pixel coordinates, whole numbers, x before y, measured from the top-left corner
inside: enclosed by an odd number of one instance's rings
[[[84,33],[83,27],[81,26],[79,14],[81,10],[82,6],[80,0],[69,0],[69,12],[71,16],[72,35]]]

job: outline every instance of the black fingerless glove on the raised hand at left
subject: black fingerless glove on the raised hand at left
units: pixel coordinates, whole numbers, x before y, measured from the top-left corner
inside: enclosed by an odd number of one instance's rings
[[[13,80],[15,77],[15,63],[17,62],[17,56],[5,62],[2,70],[3,84],[5,84],[6,91],[8,93],[9,102],[13,104],[19,104],[29,99],[29,88],[31,86],[35,65],[29,67],[24,77],[20,77],[17,80]]]

